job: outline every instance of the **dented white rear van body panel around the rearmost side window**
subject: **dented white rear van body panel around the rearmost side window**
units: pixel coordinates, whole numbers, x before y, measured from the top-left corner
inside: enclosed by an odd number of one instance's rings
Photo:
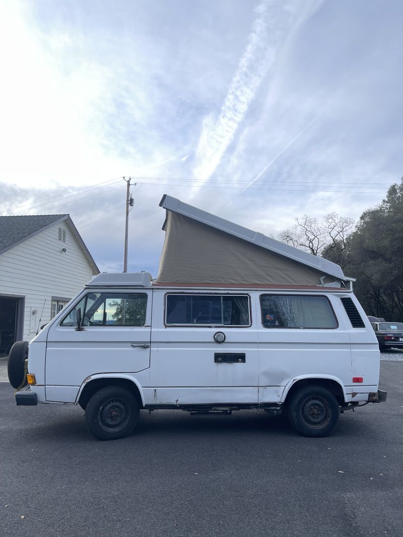
[[[267,294],[267,293],[265,293]],[[270,293],[285,294],[285,293]],[[292,295],[292,293],[287,293]],[[298,293],[303,295],[304,293]],[[325,293],[321,293],[325,295]],[[337,296],[326,295],[337,319],[334,329],[264,328],[259,331],[259,402],[282,402],[294,378],[330,376],[351,383],[350,336]],[[257,300],[260,302],[259,297]],[[260,309],[260,303],[258,304]],[[347,319],[348,321],[348,319]]]

